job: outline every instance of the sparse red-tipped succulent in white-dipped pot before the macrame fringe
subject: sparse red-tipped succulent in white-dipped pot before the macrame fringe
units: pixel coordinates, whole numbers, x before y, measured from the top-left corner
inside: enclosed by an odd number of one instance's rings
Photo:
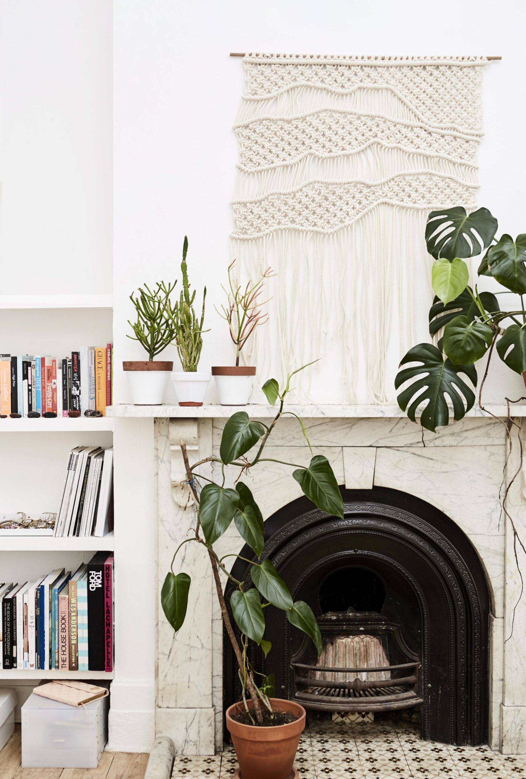
[[[216,381],[219,403],[222,406],[246,406],[248,403],[256,368],[254,365],[240,365],[240,354],[256,327],[267,322],[268,317],[261,312],[261,306],[268,303],[269,298],[261,301],[260,297],[265,279],[275,276],[275,273],[267,268],[255,284],[249,280],[243,289],[237,278],[233,277],[235,263],[234,260],[228,267],[229,290],[223,287],[227,305],[222,305],[221,311],[216,308],[219,315],[228,322],[230,337],[236,346],[236,365],[212,366],[212,376]]]

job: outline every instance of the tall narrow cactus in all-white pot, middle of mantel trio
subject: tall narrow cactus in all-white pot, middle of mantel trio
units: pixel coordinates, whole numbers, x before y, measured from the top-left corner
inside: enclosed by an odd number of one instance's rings
[[[212,377],[209,371],[198,371],[198,362],[201,357],[203,345],[202,333],[205,321],[206,287],[203,289],[203,307],[201,319],[197,319],[194,311],[195,290],[190,294],[188,282],[188,266],[186,256],[188,252],[188,238],[184,236],[183,262],[181,271],[183,274],[183,288],[179,301],[174,307],[167,299],[166,316],[169,326],[174,327],[175,345],[177,354],[181,360],[182,371],[174,371],[171,375],[177,400],[180,406],[202,406],[205,400],[206,388]]]

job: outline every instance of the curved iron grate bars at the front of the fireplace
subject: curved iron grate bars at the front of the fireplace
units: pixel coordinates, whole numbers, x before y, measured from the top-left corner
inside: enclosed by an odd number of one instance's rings
[[[378,668],[327,668],[333,677],[346,675],[341,682],[314,678],[319,665],[293,663],[294,699],[306,709],[322,711],[394,711],[409,709],[423,703],[419,697],[419,662],[388,665]],[[367,680],[354,674],[382,671],[388,678]],[[402,674],[402,675],[400,675]]]

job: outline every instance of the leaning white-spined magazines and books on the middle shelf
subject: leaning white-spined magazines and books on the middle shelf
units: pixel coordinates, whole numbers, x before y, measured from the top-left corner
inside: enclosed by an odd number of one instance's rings
[[[75,446],[68,457],[54,536],[105,536],[113,529],[113,446]]]

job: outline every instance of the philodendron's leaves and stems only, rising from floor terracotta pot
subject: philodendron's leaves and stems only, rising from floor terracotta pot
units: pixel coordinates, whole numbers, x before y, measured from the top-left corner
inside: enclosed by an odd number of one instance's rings
[[[307,366],[303,366],[303,368],[305,367]],[[298,370],[303,368],[298,368]],[[177,552],[184,544],[194,542],[202,545],[204,552],[209,555],[223,622],[237,658],[240,681],[243,686],[244,704],[248,711],[248,694],[252,700],[253,714],[258,724],[262,722],[260,701],[272,714],[272,707],[268,700],[273,694],[272,675],[265,676],[252,666],[248,659],[248,642],[255,641],[263,650],[265,657],[271,650],[271,643],[265,640],[265,609],[272,604],[285,612],[289,622],[303,630],[303,633],[306,633],[313,640],[318,657],[321,654],[322,648],[320,629],[317,626],[316,618],[310,606],[304,601],[293,601],[289,588],[281,576],[279,576],[272,562],[262,556],[265,545],[263,516],[251,490],[244,481],[241,481],[241,478],[247,476],[251,468],[256,465],[261,465],[265,462],[282,462],[282,460],[273,460],[263,455],[265,444],[268,442],[275,425],[278,424],[282,416],[293,413],[291,411],[283,411],[283,405],[286,395],[289,393],[290,379],[297,372],[294,371],[289,374],[285,389],[282,391],[279,390],[279,384],[275,379],[269,379],[262,387],[270,404],[275,405],[279,401],[279,411],[270,425],[267,426],[261,421],[251,420],[246,411],[238,411],[237,414],[233,414],[230,417],[223,429],[219,457],[209,456],[205,460],[199,460],[197,463],[190,464],[186,446],[181,442],[181,451],[188,479],[187,483],[194,495],[197,507],[195,534],[191,538],[186,538],[182,541],[177,548],[172,560],[172,569],[167,573],[161,591],[163,612],[170,625],[177,631],[183,625],[186,615],[191,577],[188,573],[174,573],[174,561]],[[293,416],[296,416],[296,414],[293,414]],[[299,421],[312,459],[307,467],[294,465],[293,463],[283,464],[294,469],[292,473],[293,478],[296,479],[303,493],[314,502],[318,509],[327,512],[331,516],[343,518],[342,495],[338,489],[338,482],[331,465],[326,457],[314,455],[303,421]],[[252,453],[253,447],[257,448]],[[250,453],[250,459],[248,453]],[[209,462],[220,465],[221,478],[219,482],[211,481],[198,473],[198,468]],[[226,468],[235,469],[236,471],[235,489],[225,487]],[[201,486],[201,481],[206,481],[207,483]],[[214,548],[214,544],[227,530],[232,521],[236,525],[240,536],[254,552],[252,560],[247,560],[247,562],[251,562],[251,587],[245,587],[243,582],[233,577],[223,562],[224,558],[220,558]],[[232,556],[240,557],[240,555],[226,556],[229,558]],[[240,641],[237,640],[230,621],[220,571],[228,577],[234,586],[230,597],[230,608],[233,619],[240,629]],[[261,598],[263,599],[262,601]],[[249,717],[254,721],[250,711]]]

